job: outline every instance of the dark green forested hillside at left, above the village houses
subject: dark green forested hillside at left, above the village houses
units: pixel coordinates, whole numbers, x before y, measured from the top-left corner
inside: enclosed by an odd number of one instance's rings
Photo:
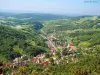
[[[0,26],[0,58],[14,59],[27,54],[36,56],[46,52],[45,43],[36,33]]]

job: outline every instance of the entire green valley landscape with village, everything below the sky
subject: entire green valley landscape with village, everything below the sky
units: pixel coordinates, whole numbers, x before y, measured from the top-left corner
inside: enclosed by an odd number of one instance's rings
[[[0,13],[0,73],[99,75],[100,16]]]

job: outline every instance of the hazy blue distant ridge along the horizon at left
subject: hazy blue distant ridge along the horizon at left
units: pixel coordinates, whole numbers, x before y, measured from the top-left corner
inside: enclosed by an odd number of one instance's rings
[[[61,15],[43,14],[43,13],[6,13],[6,12],[0,12],[0,16],[1,17],[10,16],[10,17],[15,17],[19,19],[31,18],[34,21],[44,21],[44,20],[67,17],[67,16],[61,16]]]

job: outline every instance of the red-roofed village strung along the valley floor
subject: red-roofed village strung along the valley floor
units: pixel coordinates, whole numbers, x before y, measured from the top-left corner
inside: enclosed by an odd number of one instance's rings
[[[53,36],[48,36],[48,35],[43,35],[47,40],[47,44],[48,44],[48,49],[49,49],[49,58],[46,57],[46,54],[39,54],[36,57],[32,57],[32,58],[28,58],[26,55],[22,55],[21,57],[15,58],[13,60],[13,68],[15,66],[21,66],[21,65],[29,65],[30,63],[33,64],[43,64],[43,65],[48,65],[50,63],[53,64],[59,64],[62,61],[65,61],[65,59],[67,60],[67,63],[70,62],[78,62],[78,59],[75,58],[76,54],[75,52],[77,51],[77,47],[73,44],[73,42],[71,43],[64,43],[63,46],[61,46],[60,44],[55,44],[55,41],[57,40],[57,38],[53,37]],[[61,49],[60,50],[60,58],[58,58],[59,56],[57,55],[57,49]],[[66,49],[65,52],[67,52],[68,54],[66,54],[64,56],[63,51]],[[50,61],[50,58],[52,58],[53,62]],[[65,58],[65,59],[64,59]]]

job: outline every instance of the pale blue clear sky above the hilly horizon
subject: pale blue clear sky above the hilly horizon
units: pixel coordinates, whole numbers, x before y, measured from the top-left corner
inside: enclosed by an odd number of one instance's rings
[[[100,15],[100,0],[0,0],[0,11]]]

